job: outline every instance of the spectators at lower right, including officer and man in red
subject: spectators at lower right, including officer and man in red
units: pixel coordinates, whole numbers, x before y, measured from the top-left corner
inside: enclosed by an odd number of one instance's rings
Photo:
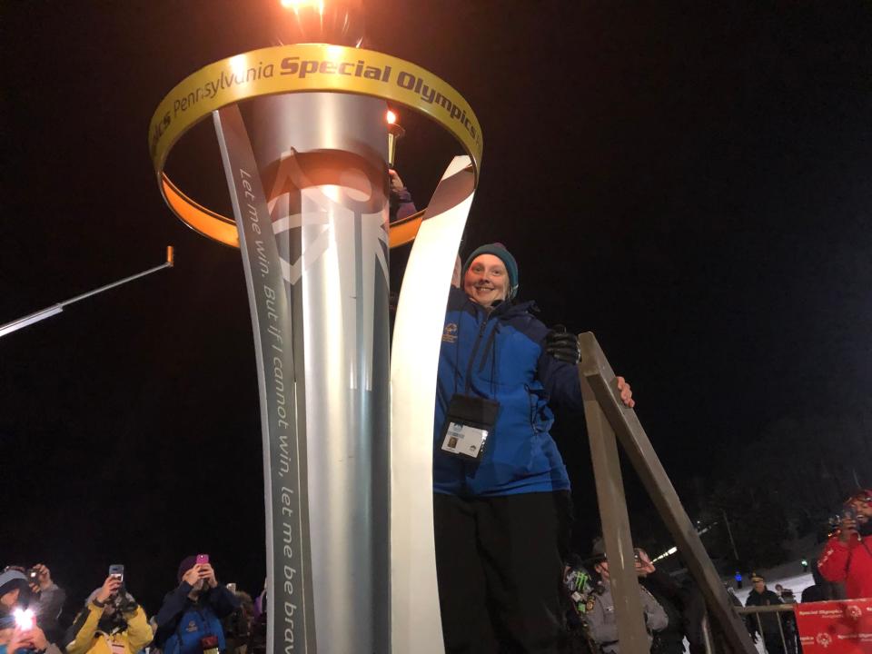
[[[798,625],[790,606],[801,601],[872,598],[872,491],[858,490],[846,501],[836,529],[829,536],[819,560],[812,565],[815,583],[802,590],[801,600],[793,590],[778,583],[770,590],[760,574],[751,576],[752,589],[744,615],[751,639],[766,654],[798,654],[802,651]],[[659,570],[645,550],[636,550],[643,619],[651,654],[701,654],[706,651],[703,618],[706,604],[699,588],[689,580],[677,582]],[[615,602],[609,588],[609,563],[602,541],[595,541],[590,558],[571,556],[566,568],[569,593],[567,629],[571,652],[618,654]],[[735,607],[741,601],[728,587]],[[762,609],[762,610],[758,610]],[[718,649],[719,651],[719,649]]]

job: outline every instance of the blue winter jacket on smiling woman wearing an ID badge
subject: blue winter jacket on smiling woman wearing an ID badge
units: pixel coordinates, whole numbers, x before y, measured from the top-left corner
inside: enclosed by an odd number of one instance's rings
[[[570,480],[549,430],[549,402],[582,410],[578,369],[545,353],[548,328],[532,302],[502,302],[490,312],[452,287],[439,357],[433,424],[433,490],[461,495],[513,495],[567,490]],[[455,393],[500,402],[481,461],[441,451]]]

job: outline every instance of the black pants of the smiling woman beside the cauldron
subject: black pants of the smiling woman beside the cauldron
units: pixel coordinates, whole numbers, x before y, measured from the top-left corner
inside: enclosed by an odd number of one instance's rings
[[[560,652],[570,492],[433,496],[436,570],[449,654]]]

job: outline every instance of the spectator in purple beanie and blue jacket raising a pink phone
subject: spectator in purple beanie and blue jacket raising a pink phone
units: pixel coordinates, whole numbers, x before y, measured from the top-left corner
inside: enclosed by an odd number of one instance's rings
[[[179,564],[179,585],[166,594],[157,613],[154,645],[163,654],[201,654],[224,651],[221,620],[239,608],[239,599],[215,577],[208,554],[185,558]]]

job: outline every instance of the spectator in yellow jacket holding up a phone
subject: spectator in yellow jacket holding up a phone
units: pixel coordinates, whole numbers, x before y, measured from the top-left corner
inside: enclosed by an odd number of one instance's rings
[[[145,611],[110,575],[94,590],[67,631],[67,654],[136,654],[154,633]]]

